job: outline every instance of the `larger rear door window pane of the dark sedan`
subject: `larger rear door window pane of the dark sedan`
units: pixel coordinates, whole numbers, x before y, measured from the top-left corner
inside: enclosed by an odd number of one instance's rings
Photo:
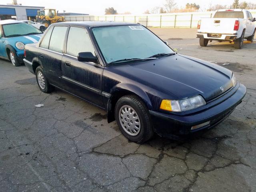
[[[50,50],[62,53],[67,28],[67,26],[54,26],[50,38]]]

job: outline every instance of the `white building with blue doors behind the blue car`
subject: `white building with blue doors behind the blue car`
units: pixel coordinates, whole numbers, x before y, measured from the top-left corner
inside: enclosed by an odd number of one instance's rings
[[[44,7],[0,5],[0,20],[34,20],[39,10],[44,10]]]

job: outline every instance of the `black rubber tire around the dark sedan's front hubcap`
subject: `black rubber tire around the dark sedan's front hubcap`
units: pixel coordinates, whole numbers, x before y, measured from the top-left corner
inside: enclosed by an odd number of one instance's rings
[[[120,110],[122,108],[124,108],[125,106],[130,106],[134,110],[134,112],[138,115],[138,119],[140,122],[139,123],[140,130],[138,131],[137,135],[135,135],[135,136],[128,134],[121,125],[123,123],[121,122],[121,120],[119,118],[119,113],[120,113]],[[152,138],[152,136],[154,135],[153,124],[150,119],[150,114],[148,112],[148,108],[146,107],[144,102],[142,102],[142,100],[140,100],[140,98],[138,98],[137,96],[127,95],[127,96],[121,97],[116,103],[115,118],[116,118],[116,122],[118,124],[120,131],[130,141],[133,141],[136,143],[143,143],[143,142],[146,142],[147,140],[149,140],[150,138]],[[127,118],[130,118],[130,117],[127,116]],[[132,118],[130,118],[130,119],[132,119]],[[130,120],[127,119],[127,121],[130,121]],[[130,122],[132,124],[132,120]],[[135,124],[135,121],[133,123]]]

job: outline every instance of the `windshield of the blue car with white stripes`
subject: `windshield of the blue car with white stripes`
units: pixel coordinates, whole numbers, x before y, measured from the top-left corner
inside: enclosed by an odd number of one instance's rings
[[[42,34],[40,30],[27,23],[12,23],[3,25],[4,35],[6,37],[24,36],[31,34]]]

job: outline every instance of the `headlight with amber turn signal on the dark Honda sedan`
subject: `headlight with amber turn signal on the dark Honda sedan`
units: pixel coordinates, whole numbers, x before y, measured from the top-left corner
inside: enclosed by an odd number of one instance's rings
[[[204,98],[200,95],[181,100],[162,100],[160,109],[173,112],[188,111],[206,105]]]

